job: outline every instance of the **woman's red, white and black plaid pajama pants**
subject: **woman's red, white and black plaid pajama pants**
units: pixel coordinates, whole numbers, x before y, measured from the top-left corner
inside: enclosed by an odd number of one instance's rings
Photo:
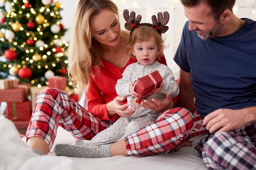
[[[76,139],[90,140],[111,124],[95,117],[59,89],[45,89],[36,99],[26,137],[40,137],[49,145],[54,143],[58,125]],[[150,126],[125,139],[129,155],[168,153],[180,143],[193,126],[192,114],[184,108],[165,111]]]

